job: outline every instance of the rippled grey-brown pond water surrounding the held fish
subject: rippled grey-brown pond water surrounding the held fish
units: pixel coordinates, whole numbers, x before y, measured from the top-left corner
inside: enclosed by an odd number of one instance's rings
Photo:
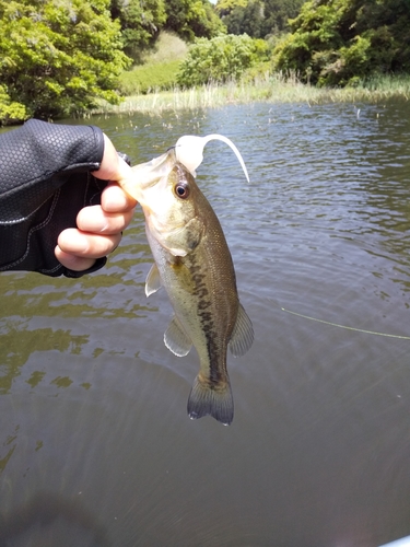
[[[77,123],[71,120],[70,123]],[[90,123],[90,120],[89,120]],[[376,547],[410,534],[410,104],[92,118],[133,163],[220,132],[198,184],[256,339],[191,421],[140,210],[104,270],[0,275],[1,545]]]

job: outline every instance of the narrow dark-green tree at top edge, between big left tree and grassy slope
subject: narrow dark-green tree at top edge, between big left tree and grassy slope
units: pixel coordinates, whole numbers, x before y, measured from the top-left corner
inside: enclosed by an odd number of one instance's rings
[[[166,21],[164,0],[112,0],[110,12],[121,25],[124,50],[134,59],[152,44]]]

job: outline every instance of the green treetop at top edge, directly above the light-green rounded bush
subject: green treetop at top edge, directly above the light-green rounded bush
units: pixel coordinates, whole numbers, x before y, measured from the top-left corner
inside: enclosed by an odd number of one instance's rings
[[[211,38],[225,32],[209,0],[167,0],[166,15],[165,28],[188,42],[194,42],[196,37]]]

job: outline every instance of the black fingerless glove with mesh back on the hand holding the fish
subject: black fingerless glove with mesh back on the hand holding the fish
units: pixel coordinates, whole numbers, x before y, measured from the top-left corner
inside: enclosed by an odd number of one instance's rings
[[[92,176],[104,154],[94,126],[54,125],[32,119],[0,136],[0,271],[28,270],[81,277],[55,257],[62,230],[75,228],[80,209],[98,205],[106,182]]]

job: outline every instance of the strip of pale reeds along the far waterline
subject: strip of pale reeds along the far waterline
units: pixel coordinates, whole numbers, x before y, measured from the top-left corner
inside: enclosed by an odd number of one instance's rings
[[[315,88],[303,84],[297,74],[284,77],[259,74],[251,82],[208,84],[200,88],[153,91],[126,97],[119,105],[101,104],[95,114],[145,113],[162,115],[167,110],[218,108],[226,104],[269,103],[378,103],[387,98],[410,98],[409,77],[379,77],[355,88]]]

